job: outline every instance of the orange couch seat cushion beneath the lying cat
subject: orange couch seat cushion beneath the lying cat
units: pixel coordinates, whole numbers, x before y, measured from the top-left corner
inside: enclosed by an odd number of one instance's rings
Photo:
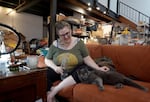
[[[138,82],[150,88],[150,83]],[[96,85],[77,84],[74,87],[74,102],[150,102],[150,91],[144,92],[130,86],[116,89],[105,85],[104,91],[99,91]]]

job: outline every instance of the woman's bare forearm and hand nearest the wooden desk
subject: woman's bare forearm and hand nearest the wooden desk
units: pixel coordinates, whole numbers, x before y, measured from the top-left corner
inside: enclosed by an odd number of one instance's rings
[[[45,58],[45,64],[52,68],[56,73],[63,74],[63,69],[61,66],[57,66],[52,60]]]

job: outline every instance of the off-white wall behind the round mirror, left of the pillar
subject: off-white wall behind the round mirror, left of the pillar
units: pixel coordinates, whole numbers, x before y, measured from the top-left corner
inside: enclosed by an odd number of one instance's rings
[[[6,8],[0,7],[0,22],[7,24],[26,36],[27,41],[32,38],[42,39],[43,17],[28,13],[6,14]]]

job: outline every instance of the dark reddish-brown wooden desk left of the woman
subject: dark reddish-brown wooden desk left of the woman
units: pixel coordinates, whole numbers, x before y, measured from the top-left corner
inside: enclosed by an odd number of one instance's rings
[[[46,68],[0,76],[0,102],[46,102]]]

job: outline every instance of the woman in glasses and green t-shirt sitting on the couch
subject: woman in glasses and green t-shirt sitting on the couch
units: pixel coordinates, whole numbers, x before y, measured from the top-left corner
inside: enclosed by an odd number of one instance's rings
[[[65,21],[58,21],[55,25],[56,34],[59,39],[55,40],[50,46],[48,54],[45,58],[45,63],[48,68],[48,95],[47,101],[54,102],[54,96],[62,88],[76,84],[79,82],[77,77],[76,68],[77,65],[82,63],[95,68],[97,70],[108,71],[107,67],[99,67],[94,60],[89,56],[88,50],[80,39],[72,37],[71,26]],[[65,69],[71,73],[64,80],[62,80],[57,86],[52,87],[53,82],[60,80],[60,76],[63,74],[62,61],[67,56],[65,62]]]

